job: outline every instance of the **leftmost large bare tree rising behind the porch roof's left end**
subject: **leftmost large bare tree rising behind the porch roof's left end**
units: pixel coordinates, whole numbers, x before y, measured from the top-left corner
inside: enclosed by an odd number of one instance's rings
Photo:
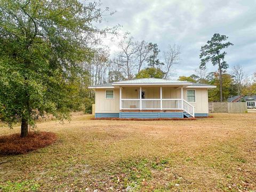
[[[129,37],[128,39],[124,39],[124,41],[120,42],[119,48],[121,49],[119,57],[122,59],[123,66],[126,68],[124,72],[127,79],[132,79],[132,72],[135,67],[133,60],[135,53],[138,51],[135,49],[133,37]]]

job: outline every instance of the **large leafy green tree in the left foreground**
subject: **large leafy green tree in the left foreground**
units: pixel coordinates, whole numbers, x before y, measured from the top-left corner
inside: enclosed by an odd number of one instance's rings
[[[46,113],[70,117],[70,103],[87,76],[89,45],[97,34],[112,33],[93,23],[102,20],[97,3],[77,0],[0,1],[0,119],[21,122],[21,137]]]

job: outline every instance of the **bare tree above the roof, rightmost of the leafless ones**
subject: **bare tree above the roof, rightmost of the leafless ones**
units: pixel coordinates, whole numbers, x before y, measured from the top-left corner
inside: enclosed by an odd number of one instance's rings
[[[164,51],[164,66],[165,66],[165,76],[164,79],[166,79],[170,71],[172,70],[173,65],[178,64],[180,60],[180,46],[177,45],[169,45],[167,51]]]

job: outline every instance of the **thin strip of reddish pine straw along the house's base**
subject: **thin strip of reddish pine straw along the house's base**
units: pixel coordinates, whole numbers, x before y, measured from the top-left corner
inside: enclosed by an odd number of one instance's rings
[[[119,121],[191,121],[196,118],[117,118],[117,117],[93,117],[92,120],[119,120]]]

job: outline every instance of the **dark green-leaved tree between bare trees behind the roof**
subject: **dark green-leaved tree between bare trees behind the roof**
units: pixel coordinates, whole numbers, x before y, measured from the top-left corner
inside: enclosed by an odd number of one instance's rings
[[[151,55],[147,58],[148,66],[155,68],[157,66],[164,65],[164,63],[160,62],[158,59],[158,53],[160,52],[158,45],[156,43],[149,43],[148,47],[151,53]]]

